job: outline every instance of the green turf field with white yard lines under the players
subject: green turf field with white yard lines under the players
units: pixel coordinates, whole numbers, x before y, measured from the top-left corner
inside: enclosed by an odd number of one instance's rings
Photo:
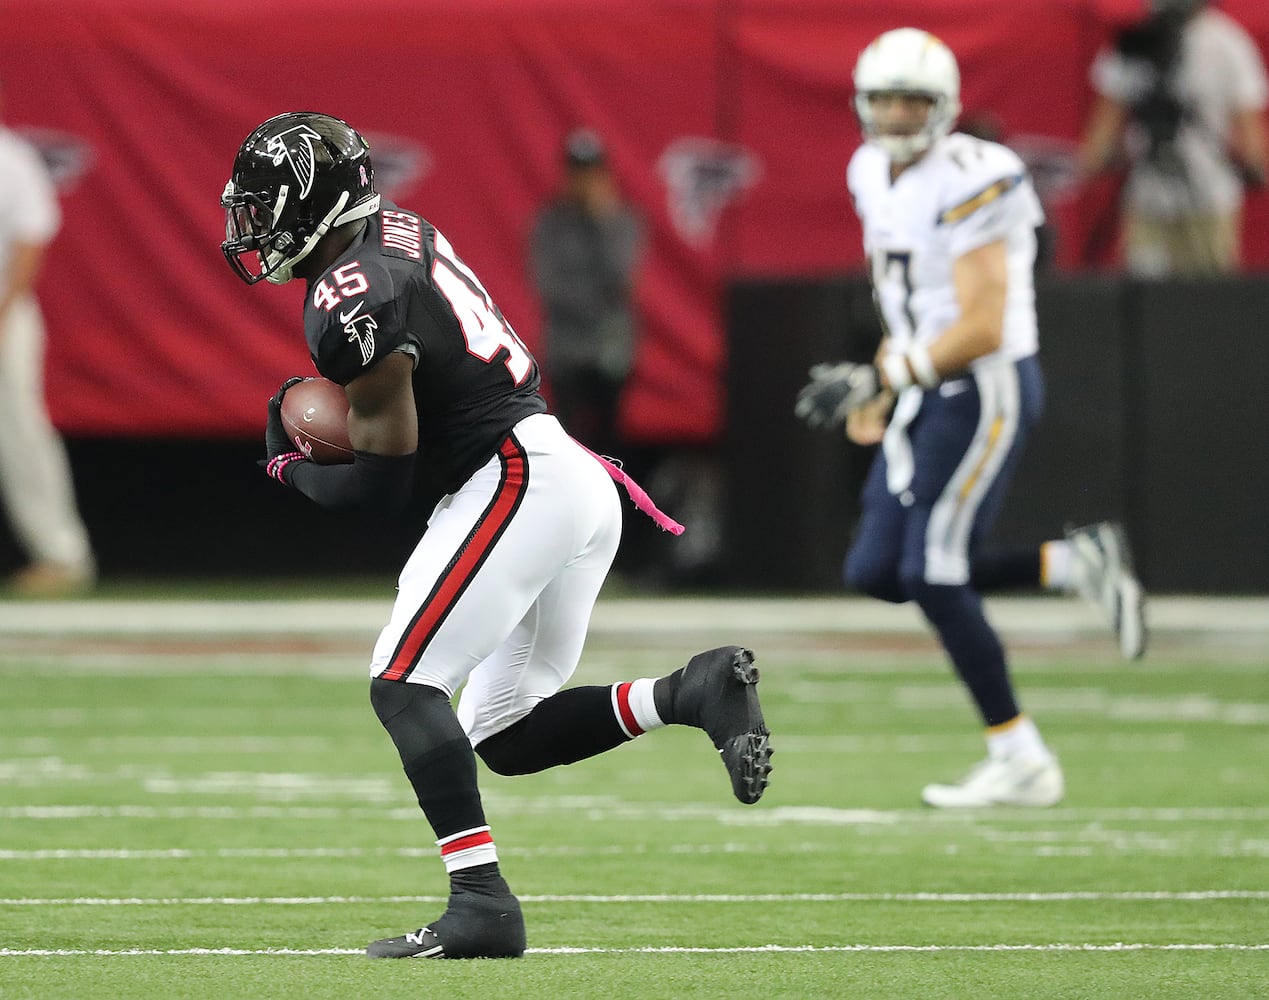
[[[766,797],[731,799],[688,730],[482,772],[528,921],[514,962],[362,954],[437,916],[445,881],[371,712],[360,626],[297,651],[259,624],[13,619],[0,997],[1269,995],[1263,636],[1164,635],[1124,664],[1093,633],[1011,635],[1067,801],[945,813],[919,789],[981,740],[924,636],[690,617],[599,629],[577,680],[753,645]]]

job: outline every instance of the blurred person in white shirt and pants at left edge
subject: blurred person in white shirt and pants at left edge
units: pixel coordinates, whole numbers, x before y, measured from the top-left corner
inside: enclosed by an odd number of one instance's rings
[[[0,112],[3,98],[0,90]],[[18,596],[65,596],[89,589],[95,577],[66,449],[44,405],[36,278],[60,225],[39,154],[0,124],[0,499],[30,560],[9,580]]]

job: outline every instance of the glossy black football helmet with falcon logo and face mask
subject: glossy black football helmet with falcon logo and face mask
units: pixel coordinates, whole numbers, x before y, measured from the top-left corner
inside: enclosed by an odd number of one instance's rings
[[[316,112],[251,129],[221,194],[221,253],[233,273],[247,284],[284,284],[331,227],[378,212],[369,150],[346,122]]]

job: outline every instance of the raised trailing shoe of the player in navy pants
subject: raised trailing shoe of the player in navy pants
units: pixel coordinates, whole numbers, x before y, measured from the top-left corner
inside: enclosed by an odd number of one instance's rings
[[[1128,534],[1118,522],[1068,528],[1075,553],[1075,590],[1101,612],[1119,640],[1119,652],[1137,660],[1146,652],[1146,591],[1132,569]]]

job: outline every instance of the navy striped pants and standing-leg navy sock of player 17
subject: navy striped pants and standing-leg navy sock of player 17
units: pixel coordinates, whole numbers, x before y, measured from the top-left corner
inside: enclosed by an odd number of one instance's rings
[[[910,419],[907,406],[901,398],[864,482],[845,581],[881,600],[916,602],[983,722],[996,726],[1019,708],[971,563],[1043,411],[1039,362],[943,382],[921,393]]]

